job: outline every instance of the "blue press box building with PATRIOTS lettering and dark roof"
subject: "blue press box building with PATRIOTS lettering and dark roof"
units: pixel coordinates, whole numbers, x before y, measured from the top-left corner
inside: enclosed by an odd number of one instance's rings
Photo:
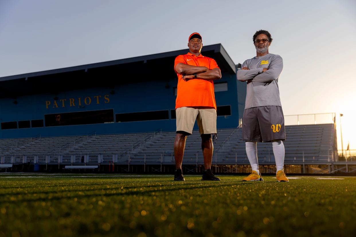
[[[176,129],[174,59],[188,49],[0,78],[0,138],[75,136]],[[221,44],[204,46],[214,81],[218,129],[236,128],[246,85]],[[195,124],[194,129],[198,129]]]

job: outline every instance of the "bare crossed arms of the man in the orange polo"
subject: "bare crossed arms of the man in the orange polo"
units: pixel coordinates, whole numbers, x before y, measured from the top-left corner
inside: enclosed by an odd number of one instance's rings
[[[221,78],[221,71],[219,68],[209,70],[203,66],[192,66],[184,63],[178,63],[174,68],[178,74],[183,75],[183,80],[188,81],[194,79],[194,74],[197,74],[197,79],[217,80]]]

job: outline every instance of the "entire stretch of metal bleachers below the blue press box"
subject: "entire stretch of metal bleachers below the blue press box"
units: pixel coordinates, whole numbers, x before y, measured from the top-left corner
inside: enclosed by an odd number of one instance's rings
[[[285,163],[328,162],[333,150],[334,124],[286,126]],[[152,132],[65,136],[50,138],[0,139],[0,163],[48,163],[64,165],[98,164],[174,164],[173,143],[176,132]],[[273,164],[270,142],[257,145],[261,165]],[[184,164],[202,164],[201,138],[194,130],[188,136]],[[248,164],[241,128],[218,129],[213,164]]]

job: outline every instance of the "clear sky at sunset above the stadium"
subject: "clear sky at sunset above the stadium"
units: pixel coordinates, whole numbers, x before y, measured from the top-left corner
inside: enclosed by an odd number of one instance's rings
[[[269,52],[283,58],[284,115],[336,113],[341,149],[342,113],[344,149],[356,149],[355,12],[355,0],[0,0],[0,77],[185,49],[192,32],[243,63],[256,55],[253,34],[266,29]]]

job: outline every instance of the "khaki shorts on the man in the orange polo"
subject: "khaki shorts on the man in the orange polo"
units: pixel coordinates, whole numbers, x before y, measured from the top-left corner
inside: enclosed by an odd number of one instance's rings
[[[180,107],[176,109],[177,131],[192,134],[195,120],[197,120],[200,134],[216,133],[216,110]]]

